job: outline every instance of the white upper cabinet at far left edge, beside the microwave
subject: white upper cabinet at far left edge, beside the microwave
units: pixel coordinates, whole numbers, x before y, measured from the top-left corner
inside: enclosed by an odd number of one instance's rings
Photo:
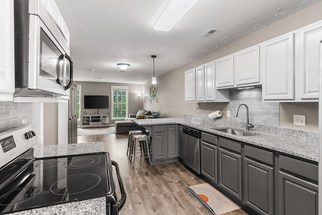
[[[14,1],[0,1],[0,101],[13,101],[15,92]]]

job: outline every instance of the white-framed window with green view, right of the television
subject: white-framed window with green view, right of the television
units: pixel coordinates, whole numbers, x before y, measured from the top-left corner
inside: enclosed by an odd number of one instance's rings
[[[112,119],[124,119],[128,111],[128,87],[112,86]]]

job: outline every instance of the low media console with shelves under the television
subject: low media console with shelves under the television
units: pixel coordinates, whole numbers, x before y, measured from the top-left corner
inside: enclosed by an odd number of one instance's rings
[[[87,114],[81,115],[81,128],[108,127],[111,114]]]

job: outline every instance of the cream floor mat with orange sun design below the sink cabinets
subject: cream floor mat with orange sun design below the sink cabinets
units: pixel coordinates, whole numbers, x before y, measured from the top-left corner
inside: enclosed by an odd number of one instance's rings
[[[205,206],[212,214],[219,215],[240,209],[238,205],[224,196],[220,191],[208,183],[189,186],[187,189]]]

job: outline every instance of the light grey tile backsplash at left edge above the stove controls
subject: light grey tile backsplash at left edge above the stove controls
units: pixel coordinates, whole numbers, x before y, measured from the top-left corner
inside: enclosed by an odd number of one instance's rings
[[[0,101],[0,129],[18,124],[18,103]]]

